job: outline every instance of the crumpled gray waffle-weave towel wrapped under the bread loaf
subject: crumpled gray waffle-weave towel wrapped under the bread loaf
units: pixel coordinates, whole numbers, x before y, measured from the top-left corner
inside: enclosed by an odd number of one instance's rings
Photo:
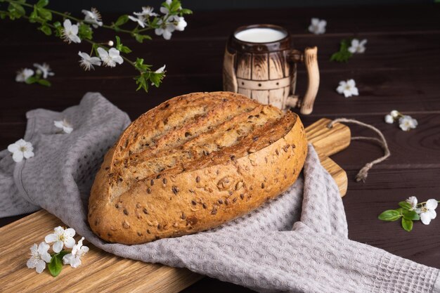
[[[25,141],[35,156],[20,163],[0,152],[0,216],[43,208],[107,252],[186,267],[259,292],[440,293],[437,268],[347,239],[335,181],[309,145],[304,177],[276,200],[207,232],[145,245],[103,242],[87,225],[87,202],[103,155],[130,120],[99,93],[63,112],[27,112]],[[71,134],[54,120],[67,119]],[[80,269],[80,268],[79,268]]]

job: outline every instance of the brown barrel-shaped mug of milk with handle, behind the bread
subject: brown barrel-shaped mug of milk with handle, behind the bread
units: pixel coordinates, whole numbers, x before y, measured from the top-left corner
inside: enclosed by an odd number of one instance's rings
[[[310,114],[318,93],[318,49],[304,53],[292,48],[289,32],[278,25],[238,27],[226,44],[223,63],[224,91],[233,91],[274,105],[281,110],[299,107]],[[304,62],[309,85],[303,98],[295,96],[297,63]]]

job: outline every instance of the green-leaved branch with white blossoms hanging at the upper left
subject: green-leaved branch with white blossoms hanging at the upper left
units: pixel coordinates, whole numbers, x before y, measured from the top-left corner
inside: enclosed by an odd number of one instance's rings
[[[130,34],[136,39],[136,41],[142,43],[145,39],[151,39],[148,34],[141,34],[148,30],[155,30],[155,34],[162,35],[164,39],[170,39],[174,31],[183,31],[186,27],[186,21],[183,15],[192,13],[188,9],[181,7],[179,0],[166,0],[160,7],[160,12],[163,15],[159,15],[153,12],[153,8],[146,6],[142,8],[139,13],[133,15],[121,15],[112,22],[112,25],[104,25],[101,21],[101,14],[96,8],[91,8],[91,11],[83,10],[85,17],[84,20],[76,18],[70,13],[62,13],[46,8],[48,0],[39,0],[36,4],[27,4],[26,0],[0,0],[8,4],[7,11],[0,11],[0,18],[6,17],[11,20],[18,18],[25,18],[30,22],[39,23],[41,25],[38,30],[44,32],[46,35],[54,33],[57,37],[64,39],[68,44],[81,43],[86,41],[91,44],[91,54],[83,53],[79,51],[78,55],[81,56],[80,65],[84,67],[84,70],[94,69],[94,66],[107,66],[115,67],[117,64],[125,62],[133,66],[139,75],[134,77],[138,89],[148,91],[149,85],[160,86],[164,77],[164,66],[158,70],[153,71],[152,65],[143,64],[143,58],[136,58],[136,61],[130,60],[124,54],[131,53],[131,49],[124,46],[118,36],[115,36],[116,46],[111,48],[114,41],[108,41],[108,46],[105,43],[97,43],[93,41],[93,30],[98,27],[114,30],[115,32],[124,32]],[[32,13],[27,15],[25,8],[33,8]],[[63,18],[63,24],[59,21],[53,22],[53,15],[58,15]],[[77,24],[72,24],[72,20]],[[125,30],[121,26],[126,24],[129,20],[136,23],[136,27],[133,30]],[[140,29],[139,27],[142,27]],[[110,47],[110,48],[109,48]],[[94,56],[93,56],[94,53]],[[121,54],[122,53],[122,54]],[[27,82],[29,77],[23,70],[22,79]],[[21,79],[21,77],[20,77]],[[35,80],[40,84],[48,83],[44,80]],[[27,82],[28,83],[28,82]],[[30,83],[30,82],[29,82]]]

